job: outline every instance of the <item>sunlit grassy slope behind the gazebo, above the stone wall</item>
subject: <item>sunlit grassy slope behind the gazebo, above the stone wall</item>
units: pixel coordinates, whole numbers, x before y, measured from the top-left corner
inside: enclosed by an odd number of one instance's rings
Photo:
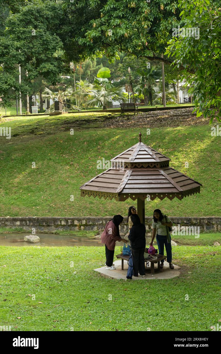
[[[10,125],[16,136],[0,138],[0,216],[126,215],[132,200],[120,203],[80,196],[79,187],[101,173],[96,169],[98,159],[110,159],[138,141],[139,129],[104,129],[97,121],[103,117],[108,118],[93,113],[2,122],[0,126]],[[79,120],[81,130],[76,127],[70,135],[70,127]],[[90,130],[84,129],[89,126]],[[146,201],[146,215],[159,207],[170,216],[219,216],[220,137],[211,137],[207,125],[151,129],[149,136],[142,129],[142,134],[144,143],[171,158],[172,167],[203,184],[200,195],[182,201]]]

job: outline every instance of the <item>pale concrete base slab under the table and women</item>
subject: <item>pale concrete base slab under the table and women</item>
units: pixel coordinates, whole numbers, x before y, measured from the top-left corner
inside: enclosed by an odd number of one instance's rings
[[[127,261],[123,262],[123,268],[124,270],[121,270],[121,259],[114,261],[116,270],[109,270],[106,269],[106,265],[105,267],[102,268],[97,268],[94,269],[95,272],[99,272],[100,274],[106,276],[107,278],[112,278],[112,279],[124,279],[124,280],[128,280],[126,278],[127,275],[127,269],[128,269],[128,264]],[[150,280],[150,279],[170,279],[170,278],[175,278],[175,276],[180,275],[180,267],[178,267],[177,265],[174,265],[174,269],[170,269],[169,267],[169,263],[164,262],[164,268],[158,270],[157,269],[157,263],[154,264],[154,274],[152,275],[150,273],[150,267],[146,268],[146,276],[145,278],[142,278],[142,276],[138,276],[132,278],[132,280]]]

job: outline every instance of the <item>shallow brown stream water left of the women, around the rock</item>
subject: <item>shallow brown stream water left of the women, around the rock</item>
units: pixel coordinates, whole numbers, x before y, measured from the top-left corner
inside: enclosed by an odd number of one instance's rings
[[[24,236],[30,234],[0,234],[0,246],[103,246],[100,240],[83,236],[36,234],[40,242],[26,242]]]

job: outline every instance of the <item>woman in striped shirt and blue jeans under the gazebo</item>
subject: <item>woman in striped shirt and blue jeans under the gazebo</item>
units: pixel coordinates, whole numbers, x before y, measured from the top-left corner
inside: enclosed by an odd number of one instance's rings
[[[153,245],[153,241],[156,235],[156,242],[159,248],[159,254],[164,255],[164,245],[166,248],[166,258],[171,269],[174,269],[172,264],[172,247],[171,236],[167,231],[167,226],[172,227],[173,223],[169,218],[166,218],[160,209],[154,210],[153,223],[152,223],[152,239],[150,245]],[[164,266],[164,259],[162,259],[160,268]]]

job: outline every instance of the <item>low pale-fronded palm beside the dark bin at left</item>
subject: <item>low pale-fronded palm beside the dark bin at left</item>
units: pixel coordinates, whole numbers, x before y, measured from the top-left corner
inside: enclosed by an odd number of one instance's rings
[[[66,104],[70,104],[67,103],[67,100],[70,100],[73,97],[73,87],[68,87],[65,91],[60,91],[58,90],[58,92],[52,92],[51,90],[49,90],[47,87],[45,87],[44,93],[42,95],[42,97],[45,99],[52,99],[53,101],[59,101],[62,103],[62,112],[70,112],[71,109],[65,107]],[[75,106],[75,105],[71,105],[71,108],[73,110],[81,110],[79,107]],[[51,104],[49,109],[47,109],[45,111],[45,113],[50,113],[50,112],[54,112],[55,111],[55,104]]]

